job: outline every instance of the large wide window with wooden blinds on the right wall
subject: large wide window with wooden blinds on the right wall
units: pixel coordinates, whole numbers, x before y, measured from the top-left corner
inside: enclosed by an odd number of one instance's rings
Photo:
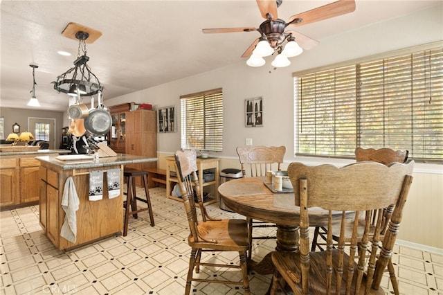
[[[298,155],[353,157],[361,147],[443,160],[443,48],[294,73]]]

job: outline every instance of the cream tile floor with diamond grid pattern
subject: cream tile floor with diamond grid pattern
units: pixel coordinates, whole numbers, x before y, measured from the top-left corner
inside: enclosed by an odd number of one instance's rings
[[[139,191],[143,194],[143,190]],[[127,237],[116,235],[73,251],[59,251],[39,226],[38,206],[0,213],[0,295],[3,294],[183,294],[190,248],[187,220],[181,202],[164,197],[164,188],[152,188],[156,226],[146,212],[130,219]],[[142,203],[143,204],[143,203]],[[213,216],[241,217],[208,206]],[[273,229],[264,229],[272,231]],[[275,247],[274,240],[254,244],[253,257],[260,260]],[[220,260],[237,255],[221,254]],[[397,246],[393,256],[401,294],[443,294],[443,256]],[[202,276],[212,270],[202,269]],[[235,277],[234,271],[218,272]],[[252,294],[265,294],[271,276],[251,274]],[[392,292],[388,277],[383,286]],[[193,283],[192,294],[243,294],[235,286]]]

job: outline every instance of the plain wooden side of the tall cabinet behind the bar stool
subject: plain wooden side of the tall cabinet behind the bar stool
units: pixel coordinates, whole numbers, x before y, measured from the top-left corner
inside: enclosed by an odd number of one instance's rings
[[[126,154],[157,157],[156,111],[138,109],[126,113]],[[138,170],[156,168],[156,162],[127,165]],[[141,186],[141,177],[136,177],[136,184]]]

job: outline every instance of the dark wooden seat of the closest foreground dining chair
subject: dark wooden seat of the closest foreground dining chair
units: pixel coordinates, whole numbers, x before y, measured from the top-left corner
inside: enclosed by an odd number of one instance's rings
[[[309,291],[308,294],[327,294],[327,289],[326,289],[326,278],[325,278],[325,274],[326,274],[326,265],[325,265],[325,261],[326,261],[326,255],[327,255],[327,251],[320,251],[320,252],[311,252],[309,253],[309,261],[311,264],[311,267],[309,268]],[[333,249],[332,250],[332,260],[333,260],[333,264],[336,265],[336,263],[338,263],[338,249]],[[346,254],[344,254],[344,260],[343,260],[343,265],[347,265],[347,263],[349,262],[350,257],[347,256]],[[290,287],[292,287],[293,289],[298,289],[300,288],[299,283],[294,283],[294,282],[300,282],[301,278],[300,278],[300,274],[301,274],[301,269],[300,269],[300,252],[298,253],[284,253],[284,252],[272,252],[272,262],[273,265],[275,266],[275,268],[280,272],[280,274],[284,277],[284,276],[289,276],[291,277],[291,280],[286,280],[288,285],[290,285]],[[289,271],[288,271],[289,270]],[[354,276],[353,278],[356,278],[356,270],[357,270],[357,265],[356,263],[354,263]],[[341,283],[341,292],[340,294],[345,294],[345,276],[347,273],[347,269],[346,267],[343,267],[343,280]],[[333,286],[335,286],[336,281],[334,280],[335,278],[335,273],[332,276],[332,284]],[[366,284],[366,279],[365,276],[363,276],[363,280],[361,283],[361,289],[359,294],[365,294],[365,284]],[[355,290],[355,282],[352,284],[351,287],[351,294],[354,294],[354,290]],[[332,287],[332,289],[335,289],[335,287]],[[300,289],[301,292],[301,289]],[[375,289],[370,289],[369,294],[380,294],[380,295],[384,295],[385,292],[384,290],[380,287],[378,290]]]

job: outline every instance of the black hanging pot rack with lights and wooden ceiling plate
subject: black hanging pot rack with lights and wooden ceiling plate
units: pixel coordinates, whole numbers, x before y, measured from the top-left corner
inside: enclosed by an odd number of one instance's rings
[[[69,23],[62,35],[78,39],[78,55],[74,66],[59,75],[57,81],[52,82],[54,89],[67,93],[69,96],[93,96],[102,91],[100,81],[87,64],[89,57],[86,50],[86,43],[94,42],[102,33],[79,24]]]

